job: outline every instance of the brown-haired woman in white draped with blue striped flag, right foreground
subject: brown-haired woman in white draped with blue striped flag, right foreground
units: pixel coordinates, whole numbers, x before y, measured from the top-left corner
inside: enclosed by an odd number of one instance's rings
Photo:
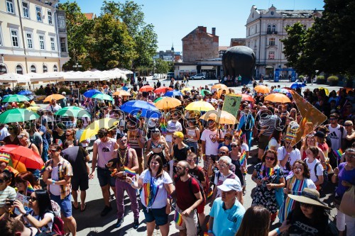
[[[293,172],[286,178],[286,187],[283,192],[293,195],[300,196],[302,190],[305,188],[316,189],[315,183],[310,179],[310,169],[308,169],[307,164],[302,160],[298,159],[293,163]],[[280,223],[283,223],[287,219],[288,213],[295,207],[295,202],[291,198],[286,198],[283,201],[283,206],[281,206],[278,213],[278,218]]]

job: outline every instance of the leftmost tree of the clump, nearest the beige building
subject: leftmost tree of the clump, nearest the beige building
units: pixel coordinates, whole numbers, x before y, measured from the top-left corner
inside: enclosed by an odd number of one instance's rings
[[[87,60],[87,41],[94,21],[87,20],[76,1],[59,4],[59,9],[65,11],[67,44],[70,56],[70,61],[63,67],[73,69],[72,66],[77,62],[82,65],[82,70],[87,70],[91,67],[89,60]]]

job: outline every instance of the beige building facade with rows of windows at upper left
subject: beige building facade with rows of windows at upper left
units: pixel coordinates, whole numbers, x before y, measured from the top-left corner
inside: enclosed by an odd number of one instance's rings
[[[0,74],[60,72],[69,61],[58,0],[0,0]]]

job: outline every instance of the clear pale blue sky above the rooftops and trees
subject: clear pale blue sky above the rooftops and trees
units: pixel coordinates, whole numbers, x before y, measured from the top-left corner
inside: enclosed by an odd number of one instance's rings
[[[70,0],[71,2],[74,0]],[[117,0],[116,0],[117,1]],[[62,0],[64,2],[64,0]],[[77,0],[83,13],[100,15],[103,0]],[[121,0],[122,2],[122,0]],[[146,23],[155,26],[158,50],[182,51],[181,39],[197,26],[207,27],[211,33],[216,28],[219,46],[229,46],[231,38],[246,37],[246,20],[251,6],[268,9],[310,10],[323,9],[321,0],[136,0],[143,5]]]

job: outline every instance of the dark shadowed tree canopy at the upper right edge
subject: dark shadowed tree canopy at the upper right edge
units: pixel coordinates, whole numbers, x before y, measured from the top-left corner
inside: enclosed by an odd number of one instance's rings
[[[355,74],[355,1],[324,0],[321,18],[311,28],[286,28],[283,40],[288,66],[301,74]]]

